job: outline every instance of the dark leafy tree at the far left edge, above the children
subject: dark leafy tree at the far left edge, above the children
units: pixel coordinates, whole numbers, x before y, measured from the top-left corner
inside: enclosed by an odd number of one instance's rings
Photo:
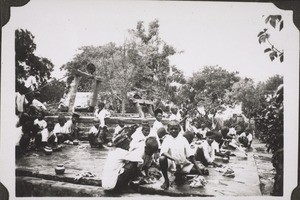
[[[34,36],[28,30],[17,29],[15,31],[15,61],[16,81],[27,79],[33,75],[38,86],[44,85],[51,77],[53,64],[50,60],[35,55],[36,44]],[[29,67],[27,67],[29,66]]]

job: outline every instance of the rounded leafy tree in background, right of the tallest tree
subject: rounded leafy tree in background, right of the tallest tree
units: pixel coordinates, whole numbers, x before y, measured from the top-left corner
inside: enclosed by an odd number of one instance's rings
[[[237,74],[221,67],[206,66],[187,80],[179,92],[179,98],[182,101],[188,98],[185,103],[190,105],[190,109],[204,106],[206,113],[215,114],[224,109],[222,104],[230,103],[226,102],[225,94],[240,80]]]

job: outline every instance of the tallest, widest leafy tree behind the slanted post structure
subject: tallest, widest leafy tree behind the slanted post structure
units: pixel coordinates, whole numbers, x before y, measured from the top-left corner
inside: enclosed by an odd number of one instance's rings
[[[85,46],[75,58],[62,66],[72,81],[72,71],[82,69],[88,63],[96,66],[96,75],[102,77],[102,91],[122,101],[125,112],[127,93],[136,90],[144,98],[166,98],[166,91],[172,91],[169,84],[174,81],[184,82],[183,73],[175,66],[170,66],[169,56],[176,53],[159,37],[159,23],[149,23],[148,31],[143,22],[138,22],[136,29],[129,31],[130,38],[123,45],[108,43],[103,46]],[[172,73],[171,72],[172,69]],[[92,82],[82,78],[79,91],[90,91]]]

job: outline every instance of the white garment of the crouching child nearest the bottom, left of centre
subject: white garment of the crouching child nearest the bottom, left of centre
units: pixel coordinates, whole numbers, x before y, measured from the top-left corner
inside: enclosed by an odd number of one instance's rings
[[[137,151],[134,152],[139,155]],[[118,176],[123,173],[125,161],[142,162],[140,156],[130,153],[127,150],[116,148],[108,153],[102,172],[102,188],[105,190],[113,189],[118,181]]]

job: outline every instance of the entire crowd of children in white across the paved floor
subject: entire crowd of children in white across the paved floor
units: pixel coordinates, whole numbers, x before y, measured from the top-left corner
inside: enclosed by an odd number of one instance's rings
[[[171,116],[162,121],[163,111],[156,109],[152,126],[147,120],[131,126],[123,120],[118,121],[111,139],[115,148],[107,156],[101,177],[106,191],[120,190],[138,177],[148,177],[151,167],[160,170],[164,179],[161,188],[168,189],[169,171],[180,184],[186,174],[208,175],[205,167],[218,167],[215,156],[229,158],[231,152],[228,149],[244,151],[242,147],[251,148],[253,130],[249,127],[238,131],[235,125],[209,129],[205,123],[193,119],[183,123],[188,118],[181,116],[178,108],[172,108],[171,112]],[[103,103],[99,103],[94,116],[88,140],[92,148],[103,148],[109,141],[105,119],[110,113]],[[56,149],[62,143],[73,144],[78,140],[78,113],[73,113],[68,121],[59,115],[55,125],[52,121],[46,122],[44,117],[43,111],[38,111],[36,117],[20,113],[16,125],[18,156],[28,149],[46,146]]]

